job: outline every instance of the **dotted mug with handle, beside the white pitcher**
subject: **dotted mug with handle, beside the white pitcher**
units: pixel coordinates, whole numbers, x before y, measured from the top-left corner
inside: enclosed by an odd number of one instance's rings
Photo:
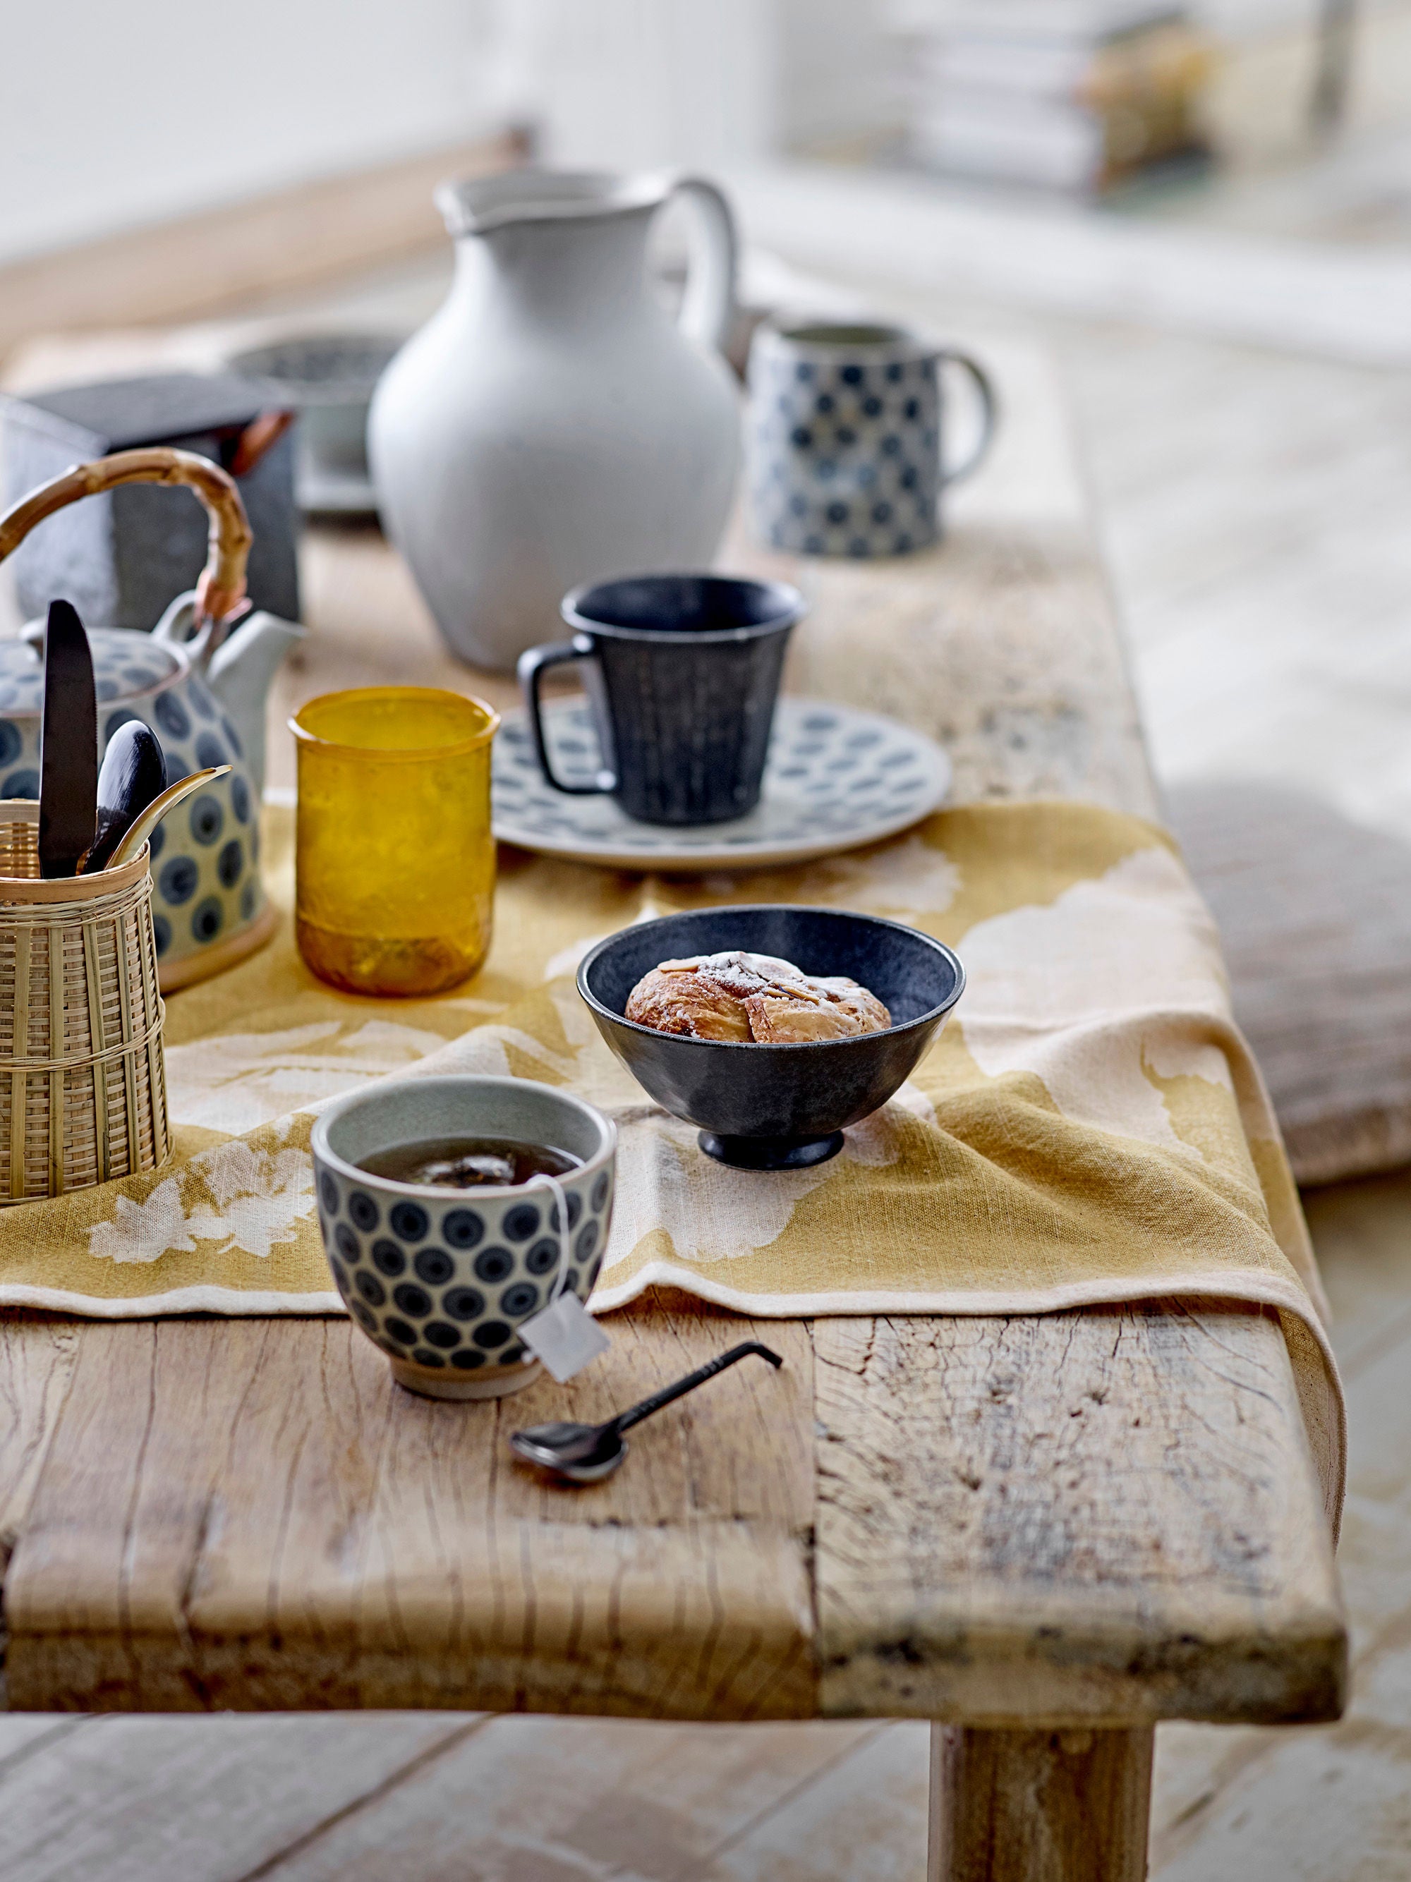
[[[969,373],[980,437],[944,463],[941,367]],[[995,393],[969,354],[901,327],[764,322],[749,354],[749,501],[796,555],[907,555],[941,536],[941,491],[978,469]]]

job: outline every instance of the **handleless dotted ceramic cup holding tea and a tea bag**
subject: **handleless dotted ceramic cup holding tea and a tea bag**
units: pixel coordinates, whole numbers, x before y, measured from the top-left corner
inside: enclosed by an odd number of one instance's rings
[[[617,1127],[531,1078],[399,1078],[329,1105],[312,1129],[318,1221],[348,1312],[427,1398],[504,1398],[536,1378],[519,1327],[559,1274],[553,1191],[391,1182],[361,1157],[433,1137],[512,1137],[583,1159],[561,1176],[566,1285],[587,1300],[613,1214]]]

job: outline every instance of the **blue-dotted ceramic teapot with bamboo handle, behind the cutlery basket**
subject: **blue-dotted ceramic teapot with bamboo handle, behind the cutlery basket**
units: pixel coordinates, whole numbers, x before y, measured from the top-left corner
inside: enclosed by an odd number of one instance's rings
[[[149,461],[145,474],[130,459]],[[83,487],[60,489],[75,482]],[[190,484],[213,516],[201,585],[177,597],[151,634],[88,629],[100,762],[117,728],[141,719],[162,743],[169,785],[207,766],[231,768],[169,811],[151,837],[158,971],[162,992],[171,992],[231,965],[273,933],[277,917],[260,881],[265,694],[303,629],[260,612],[237,615],[222,638],[239,608],[250,529],[235,484],[188,452],[120,452],[55,478],[0,518],[0,557],[40,516],[115,482]],[[41,621],[0,642],[0,798],[40,794],[41,647]]]

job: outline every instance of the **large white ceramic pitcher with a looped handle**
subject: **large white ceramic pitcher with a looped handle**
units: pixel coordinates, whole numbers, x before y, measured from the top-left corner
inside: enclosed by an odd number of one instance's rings
[[[653,215],[681,194],[692,265],[679,324],[647,280]],[[452,649],[514,668],[566,589],[707,568],[739,461],[721,356],[736,233],[694,177],[510,171],[442,184],[444,307],[369,414],[382,521]]]

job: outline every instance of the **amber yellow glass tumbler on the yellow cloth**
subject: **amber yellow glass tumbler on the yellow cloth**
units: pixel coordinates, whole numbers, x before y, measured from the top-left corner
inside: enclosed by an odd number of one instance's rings
[[[493,708],[435,687],[324,693],[299,751],[295,932],[350,994],[438,994],[485,958]]]

